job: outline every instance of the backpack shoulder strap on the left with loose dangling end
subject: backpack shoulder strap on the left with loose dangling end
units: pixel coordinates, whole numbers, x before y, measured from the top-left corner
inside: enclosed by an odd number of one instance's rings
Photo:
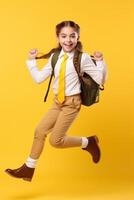
[[[52,74],[51,74],[51,77],[50,77],[50,80],[49,80],[49,83],[48,83],[48,88],[47,88],[47,92],[46,92],[45,97],[44,97],[44,102],[46,102],[46,100],[47,100],[47,96],[48,96],[48,93],[49,93],[49,90],[50,90],[52,78],[54,76],[54,68],[55,68],[56,62],[58,60],[59,54],[60,54],[59,50],[55,51],[53,56],[52,56],[52,59],[51,59]]]

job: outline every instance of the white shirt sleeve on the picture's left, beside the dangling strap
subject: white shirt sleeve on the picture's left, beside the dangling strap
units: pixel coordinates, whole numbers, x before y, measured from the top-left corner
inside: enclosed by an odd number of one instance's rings
[[[42,83],[52,74],[51,59],[52,55],[48,63],[41,70],[37,67],[36,59],[26,60],[27,68],[36,83]]]

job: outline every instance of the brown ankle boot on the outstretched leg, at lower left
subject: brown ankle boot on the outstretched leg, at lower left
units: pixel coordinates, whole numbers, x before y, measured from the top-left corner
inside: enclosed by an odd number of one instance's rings
[[[18,169],[6,169],[5,172],[10,176],[15,178],[22,178],[25,181],[31,181],[35,168],[27,167],[26,164],[23,164]]]

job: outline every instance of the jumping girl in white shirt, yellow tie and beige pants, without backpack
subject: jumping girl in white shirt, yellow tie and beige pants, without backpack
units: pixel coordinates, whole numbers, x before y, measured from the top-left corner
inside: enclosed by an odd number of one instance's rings
[[[77,57],[78,52],[82,51],[82,44],[79,41],[80,27],[73,21],[63,21],[56,26],[56,35],[59,43],[57,48],[40,57],[37,57],[37,49],[30,50],[29,59],[26,61],[33,79],[37,83],[41,83],[51,76],[52,56],[56,50],[60,50],[54,69],[53,91],[55,97],[52,108],[35,129],[31,153],[26,162],[20,168],[5,170],[9,175],[27,181],[32,180],[37,160],[49,132],[51,132],[49,141],[52,146],[56,148],[80,147],[92,156],[94,163],[98,163],[100,160],[97,136],[71,137],[66,134],[81,108],[80,81],[73,64],[73,59]],[[87,53],[82,54],[81,71],[88,73],[98,84],[104,84],[106,65],[103,61],[103,55],[100,52],[94,52],[93,56],[97,66]],[[42,70],[37,68],[37,58],[49,58]]]

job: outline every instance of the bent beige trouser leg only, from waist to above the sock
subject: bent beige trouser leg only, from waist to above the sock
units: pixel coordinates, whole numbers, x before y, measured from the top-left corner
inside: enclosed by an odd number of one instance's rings
[[[79,95],[66,97],[64,104],[61,106],[58,119],[50,136],[50,144],[59,148],[80,147],[82,144],[81,137],[67,136],[66,132],[72,122],[78,115],[81,107],[81,99]]]

